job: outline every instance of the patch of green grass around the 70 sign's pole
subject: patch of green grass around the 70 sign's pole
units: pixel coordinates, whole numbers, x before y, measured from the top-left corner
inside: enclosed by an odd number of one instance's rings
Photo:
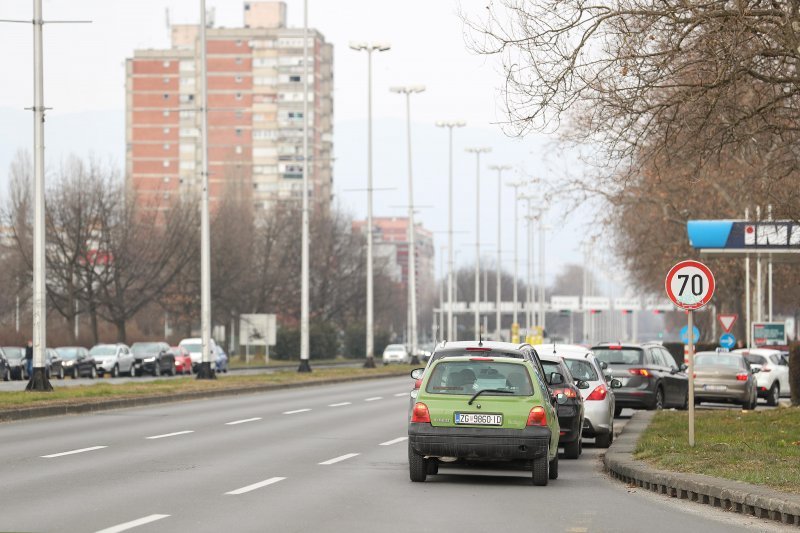
[[[800,408],[657,413],[635,457],[665,470],[706,474],[800,493]]]

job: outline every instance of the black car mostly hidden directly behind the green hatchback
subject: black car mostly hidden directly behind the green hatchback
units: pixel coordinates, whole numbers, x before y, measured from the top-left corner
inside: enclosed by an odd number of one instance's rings
[[[558,404],[558,425],[561,436],[558,445],[564,447],[564,457],[577,459],[583,451],[583,397],[580,389],[588,389],[585,381],[576,380],[558,355],[540,354],[547,384]]]

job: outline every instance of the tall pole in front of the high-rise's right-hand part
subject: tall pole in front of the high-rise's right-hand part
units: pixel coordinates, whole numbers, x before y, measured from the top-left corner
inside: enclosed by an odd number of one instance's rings
[[[316,69],[316,65],[315,65]],[[316,99],[314,100],[316,102]],[[308,0],[303,0],[303,218],[300,276],[300,366],[298,372],[311,372],[309,364],[309,213],[308,213]],[[368,228],[368,233],[372,227]]]

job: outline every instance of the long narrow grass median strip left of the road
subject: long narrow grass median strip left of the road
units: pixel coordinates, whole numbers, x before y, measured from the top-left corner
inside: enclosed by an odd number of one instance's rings
[[[409,365],[397,365],[378,369],[321,368],[315,369],[310,374],[300,374],[294,370],[287,370],[283,372],[274,372],[272,374],[258,374],[252,376],[221,375],[216,380],[197,380],[192,376],[139,383],[113,383],[109,379],[99,380],[92,385],[80,385],[76,387],[59,386],[58,381],[51,381],[55,389],[52,392],[0,392],[0,410],[87,403],[137,396],[169,396],[182,392],[214,391],[270,384],[313,383],[315,381],[352,376],[407,376],[411,369],[412,367]],[[410,390],[412,385],[411,378],[409,378],[408,385]]]

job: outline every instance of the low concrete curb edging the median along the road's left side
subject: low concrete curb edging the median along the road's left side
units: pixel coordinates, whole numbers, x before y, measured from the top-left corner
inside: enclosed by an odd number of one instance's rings
[[[145,405],[155,405],[160,403],[183,402],[190,400],[203,400],[218,396],[237,396],[240,394],[257,394],[284,389],[298,389],[301,387],[313,387],[317,385],[334,385],[337,383],[348,383],[351,381],[366,381],[370,379],[385,379],[402,377],[407,374],[377,374],[372,376],[352,376],[343,378],[321,379],[319,381],[306,381],[301,383],[267,383],[264,385],[253,385],[248,387],[231,387],[225,389],[181,392],[178,394],[159,394],[150,396],[136,396],[128,398],[111,398],[100,401],[86,401],[81,403],[49,405],[42,407],[23,407],[19,409],[0,410],[0,422],[13,422],[15,420],[29,420],[31,418],[43,418],[49,416],[77,415],[82,413],[94,413],[96,411],[108,411],[111,409],[126,409],[128,407],[141,407]],[[411,387],[409,385],[409,392]]]

